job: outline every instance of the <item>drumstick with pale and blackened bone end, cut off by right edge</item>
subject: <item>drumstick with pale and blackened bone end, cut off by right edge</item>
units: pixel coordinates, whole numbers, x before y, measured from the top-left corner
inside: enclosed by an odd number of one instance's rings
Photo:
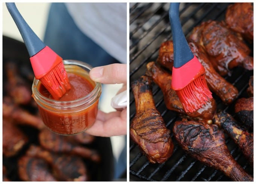
[[[213,122],[224,129],[235,141],[250,165],[253,166],[253,133],[239,127],[238,122],[230,114],[223,111],[214,116]]]

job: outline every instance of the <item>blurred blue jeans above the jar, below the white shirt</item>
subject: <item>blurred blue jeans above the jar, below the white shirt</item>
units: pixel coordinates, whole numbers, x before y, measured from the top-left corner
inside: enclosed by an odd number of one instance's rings
[[[63,59],[84,61],[93,67],[119,63],[82,33],[64,3],[51,4],[44,43]]]

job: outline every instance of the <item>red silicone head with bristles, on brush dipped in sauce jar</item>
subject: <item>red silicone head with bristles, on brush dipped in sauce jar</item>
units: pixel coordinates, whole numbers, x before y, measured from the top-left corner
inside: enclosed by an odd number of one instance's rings
[[[35,78],[41,81],[53,99],[58,100],[70,90],[71,86],[62,58],[48,46],[30,57],[30,62]]]

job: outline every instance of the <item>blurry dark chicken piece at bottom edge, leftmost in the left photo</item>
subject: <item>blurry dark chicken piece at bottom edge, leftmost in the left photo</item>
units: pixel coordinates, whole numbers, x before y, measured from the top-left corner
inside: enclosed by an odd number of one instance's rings
[[[56,181],[45,160],[26,155],[18,160],[18,174],[23,181]]]

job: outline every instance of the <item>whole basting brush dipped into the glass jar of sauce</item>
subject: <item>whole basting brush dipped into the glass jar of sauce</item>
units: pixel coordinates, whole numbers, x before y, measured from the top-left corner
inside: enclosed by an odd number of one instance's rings
[[[71,88],[62,58],[46,46],[34,33],[21,16],[15,3],[6,3],[6,7],[29,52],[35,78],[41,81],[53,99],[58,100]]]

